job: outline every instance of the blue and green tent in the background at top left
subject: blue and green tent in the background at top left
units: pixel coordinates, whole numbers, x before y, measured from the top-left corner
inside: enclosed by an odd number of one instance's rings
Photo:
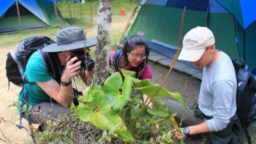
[[[54,4],[49,0],[17,0],[19,3],[20,22],[22,29],[56,27]],[[69,24],[63,19],[60,11],[58,15],[62,26]],[[15,0],[0,0],[0,33],[19,31],[20,24]]]

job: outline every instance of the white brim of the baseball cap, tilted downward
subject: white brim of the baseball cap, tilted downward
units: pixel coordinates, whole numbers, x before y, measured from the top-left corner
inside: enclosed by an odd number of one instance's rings
[[[183,61],[198,61],[204,54],[205,49],[182,49],[178,60]]]

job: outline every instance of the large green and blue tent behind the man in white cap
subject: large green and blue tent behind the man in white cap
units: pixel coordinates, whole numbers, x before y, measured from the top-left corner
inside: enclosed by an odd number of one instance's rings
[[[167,1],[165,6],[153,4],[152,0],[151,4],[146,2],[141,6],[127,34],[142,33],[150,49],[173,58],[173,51],[179,39],[182,10],[185,4],[191,3],[189,0],[179,0],[180,3],[175,3],[177,1]],[[196,1],[199,3],[201,0]],[[164,1],[157,1],[161,2]],[[243,58],[251,69],[256,68],[256,49],[253,45],[253,42],[256,42],[256,22],[244,29],[219,0],[209,0],[206,6],[205,3],[202,4],[204,6],[199,6],[198,10],[193,4],[186,10],[182,36],[191,28],[207,26],[214,33],[216,49],[226,52],[232,59]],[[256,13],[251,15],[254,17]]]

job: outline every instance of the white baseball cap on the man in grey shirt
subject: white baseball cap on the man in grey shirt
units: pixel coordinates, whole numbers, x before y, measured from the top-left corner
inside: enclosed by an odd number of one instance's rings
[[[215,40],[212,31],[206,27],[197,26],[184,36],[178,60],[198,61],[205,49],[213,44]]]

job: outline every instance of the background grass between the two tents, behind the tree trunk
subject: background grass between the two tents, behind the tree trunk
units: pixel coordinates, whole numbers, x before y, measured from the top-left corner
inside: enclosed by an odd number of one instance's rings
[[[64,17],[65,20],[70,24],[70,26],[78,26],[84,29],[90,29],[93,26],[97,25],[97,6],[98,2],[93,1],[92,3],[92,25],[91,25],[91,15],[90,15],[90,0],[86,1],[85,4],[80,3],[67,3],[66,1],[61,1],[58,3],[58,8],[61,11],[61,15]],[[118,1],[114,0],[112,3],[112,14],[115,17],[118,15],[118,11],[121,8],[124,8],[127,13],[132,12],[136,7],[138,1]],[[70,7],[70,9],[69,9]],[[71,11],[71,12],[70,12]],[[82,16],[81,16],[82,15]],[[60,29],[58,27],[51,28],[39,28],[39,29],[29,29],[29,30],[22,30],[17,33],[9,33],[0,35],[0,46],[1,47],[8,47],[9,45],[19,44],[24,38],[28,38],[29,36],[35,35],[45,35],[49,36],[50,38],[56,40],[56,33]],[[112,38],[112,48],[114,48],[115,41],[118,42],[122,36],[122,32],[124,29],[120,29],[120,31],[111,31],[111,38]],[[93,35],[96,37],[96,35]],[[14,48],[13,48],[14,49]]]

